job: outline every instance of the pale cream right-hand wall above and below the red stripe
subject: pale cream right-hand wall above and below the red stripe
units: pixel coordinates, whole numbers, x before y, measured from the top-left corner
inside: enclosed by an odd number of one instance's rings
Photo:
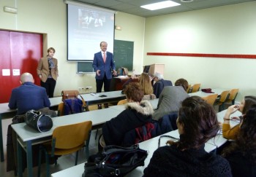
[[[256,95],[255,59],[150,56],[147,52],[256,53],[256,1],[146,18],[144,64],[165,63],[165,79]]]

